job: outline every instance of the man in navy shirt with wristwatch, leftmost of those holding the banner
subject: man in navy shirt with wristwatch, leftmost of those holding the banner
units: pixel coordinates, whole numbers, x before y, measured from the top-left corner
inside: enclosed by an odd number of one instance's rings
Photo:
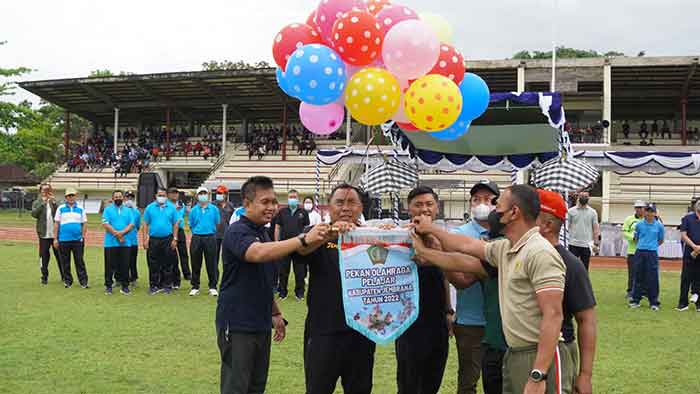
[[[279,259],[310,242],[324,239],[328,226],[271,242],[265,225],[275,212],[272,180],[252,177],[241,188],[245,215],[226,231],[224,274],[216,309],[221,354],[221,393],[263,393],[270,364],[270,329],[275,341],[285,336],[285,322],[272,294]]]

